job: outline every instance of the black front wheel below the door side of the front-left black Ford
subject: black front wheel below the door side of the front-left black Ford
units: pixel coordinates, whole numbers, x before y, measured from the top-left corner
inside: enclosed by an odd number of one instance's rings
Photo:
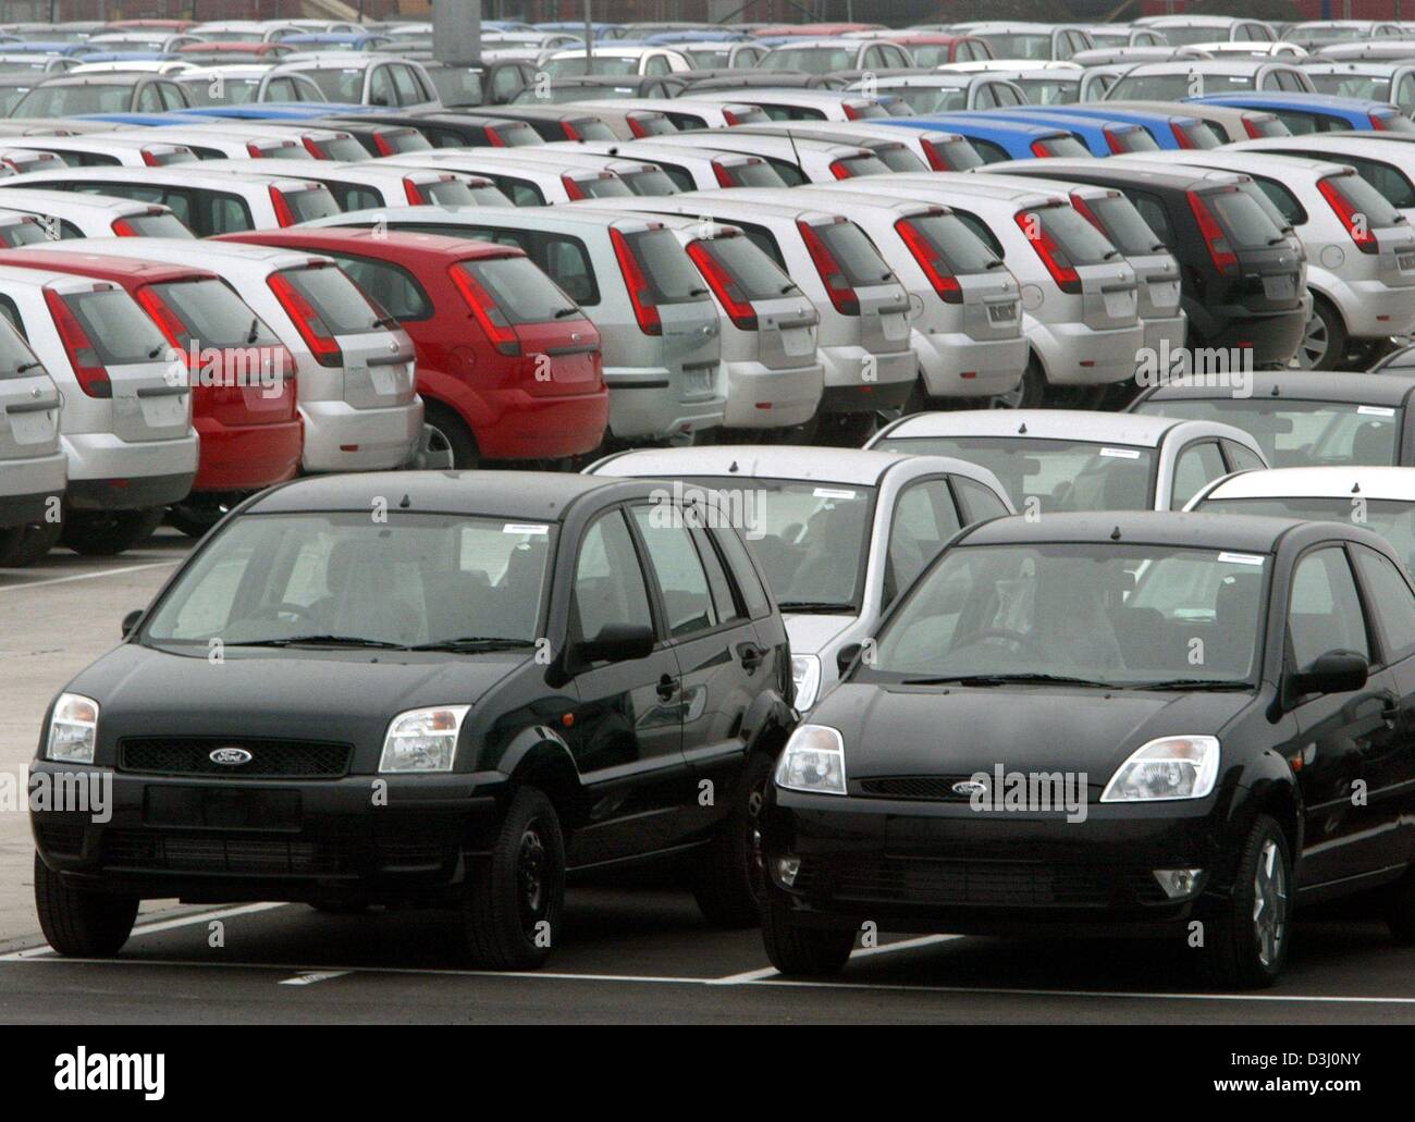
[[[484,969],[535,969],[550,956],[563,913],[560,819],[541,791],[522,787],[501,821],[490,857],[467,884],[467,951]]]

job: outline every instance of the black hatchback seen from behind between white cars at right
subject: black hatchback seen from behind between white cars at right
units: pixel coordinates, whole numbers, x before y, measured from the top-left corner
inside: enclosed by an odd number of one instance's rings
[[[1302,243],[1248,177],[1118,160],[1020,160],[993,170],[1126,195],[1179,259],[1189,347],[1251,349],[1255,366],[1286,365],[1298,352],[1307,323]]]

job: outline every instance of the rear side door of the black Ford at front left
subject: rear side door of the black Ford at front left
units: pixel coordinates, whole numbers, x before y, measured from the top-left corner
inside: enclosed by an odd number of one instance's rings
[[[695,790],[683,805],[683,836],[727,812],[719,798],[746,758],[741,737],[747,710],[766,679],[767,649],[758,644],[741,594],[733,587],[716,546],[702,529],[710,521],[699,505],[671,497],[630,508],[649,559],[668,642],[678,659],[683,757]],[[700,787],[702,781],[710,785]]]

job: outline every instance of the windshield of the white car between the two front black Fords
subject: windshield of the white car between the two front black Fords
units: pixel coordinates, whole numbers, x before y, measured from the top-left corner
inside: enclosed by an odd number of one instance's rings
[[[785,614],[859,613],[873,487],[740,477],[693,482],[740,505],[743,536]]]

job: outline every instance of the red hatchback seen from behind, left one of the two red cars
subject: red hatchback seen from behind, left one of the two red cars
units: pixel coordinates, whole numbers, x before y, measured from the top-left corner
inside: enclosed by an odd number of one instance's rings
[[[192,246],[200,258],[201,243]],[[294,358],[219,276],[100,252],[14,249],[4,263],[119,284],[181,351],[201,441],[192,494],[171,509],[184,533],[205,533],[245,494],[294,477],[304,443]]]

